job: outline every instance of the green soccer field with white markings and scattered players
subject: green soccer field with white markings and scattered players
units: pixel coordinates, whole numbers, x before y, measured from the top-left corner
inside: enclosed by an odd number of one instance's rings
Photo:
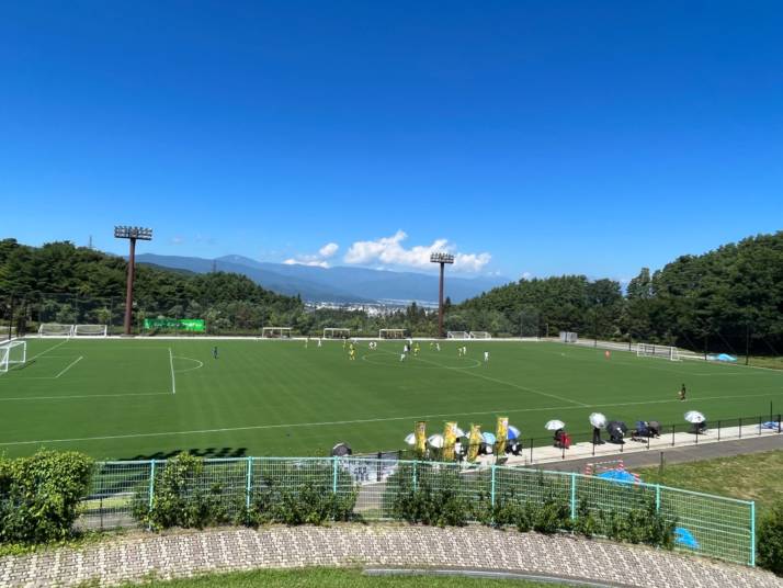
[[[375,351],[361,341],[350,361],[339,341],[30,339],[27,363],[0,375],[0,453],[325,455],[339,441],[358,452],[401,449],[418,419],[431,432],[445,420],[493,431],[501,415],[524,438],[544,438],[553,418],[588,432],[595,410],[631,427],[684,427],[689,409],[715,422],[768,414],[770,402],[778,411],[783,400],[783,373],[771,370],[616,351],[606,359],[552,342],[420,344],[419,358],[400,362],[401,341]]]

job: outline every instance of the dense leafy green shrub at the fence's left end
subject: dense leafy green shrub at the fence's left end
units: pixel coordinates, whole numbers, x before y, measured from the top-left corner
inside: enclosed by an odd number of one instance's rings
[[[91,475],[92,460],[77,452],[0,459],[0,542],[46,543],[70,536]]]

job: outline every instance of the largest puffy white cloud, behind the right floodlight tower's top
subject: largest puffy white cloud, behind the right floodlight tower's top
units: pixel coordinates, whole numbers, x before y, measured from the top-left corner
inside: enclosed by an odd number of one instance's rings
[[[402,246],[408,238],[404,230],[392,237],[374,241],[356,241],[345,253],[345,263],[402,265],[416,269],[431,269],[430,255],[446,251],[454,255],[454,269],[458,272],[479,272],[492,259],[489,253],[459,253],[447,239],[436,239],[431,245],[416,245],[410,249]]]

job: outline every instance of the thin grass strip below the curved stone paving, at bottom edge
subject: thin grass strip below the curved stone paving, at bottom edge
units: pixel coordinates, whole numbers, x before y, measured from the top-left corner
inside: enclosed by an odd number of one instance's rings
[[[127,585],[133,586],[133,585]],[[151,588],[565,588],[566,584],[496,580],[459,576],[365,576],[358,569],[292,569],[215,574],[194,579],[151,581]]]

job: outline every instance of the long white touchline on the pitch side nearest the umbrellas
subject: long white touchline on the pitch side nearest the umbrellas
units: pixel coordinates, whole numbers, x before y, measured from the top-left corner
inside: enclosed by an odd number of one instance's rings
[[[161,393],[167,396],[169,393]],[[740,396],[700,396],[693,397],[692,400],[719,400],[726,398],[751,398],[754,396],[778,396],[783,394],[783,392],[778,392],[774,394],[744,394]],[[589,405],[585,408],[612,408],[617,406],[644,406],[653,404],[679,404],[681,400],[640,400],[635,403],[611,403],[611,404],[599,404]],[[356,420],[332,420],[324,422],[292,422],[292,423],[280,423],[280,425],[253,425],[248,427],[227,427],[222,429],[196,429],[192,431],[167,431],[160,433],[128,433],[128,434],[113,434],[104,437],[81,437],[73,439],[41,439],[37,441],[5,441],[0,442],[0,446],[8,445],[35,445],[39,443],[73,443],[78,441],[105,441],[112,439],[138,439],[144,437],[173,437],[180,434],[204,434],[204,433],[224,433],[232,431],[258,431],[264,429],[283,429],[283,428],[294,428],[294,427],[331,427],[336,425],[361,425],[367,422],[387,422],[393,420],[416,420],[422,418],[454,418],[454,417],[470,417],[480,415],[497,415],[497,414],[517,414],[517,412],[542,412],[544,410],[581,410],[582,407],[579,406],[547,406],[544,408],[511,408],[511,409],[497,409],[497,410],[480,410],[475,412],[443,412],[440,415],[413,415],[407,417],[388,417],[388,418],[374,418],[374,419],[356,419]]]

